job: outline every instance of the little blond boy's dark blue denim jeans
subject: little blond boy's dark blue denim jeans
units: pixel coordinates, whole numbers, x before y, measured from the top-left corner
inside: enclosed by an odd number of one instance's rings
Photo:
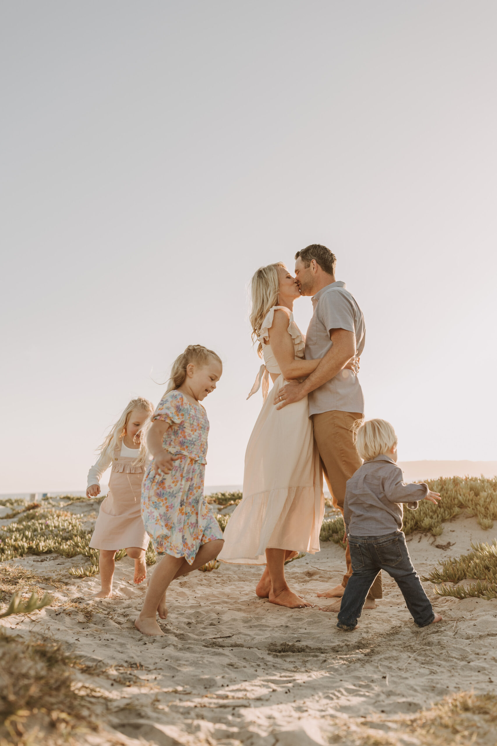
[[[361,616],[367,592],[379,570],[386,571],[399,586],[405,603],[418,627],[434,620],[433,607],[411,564],[402,531],[386,536],[349,536],[352,576],[346,584],[338,612],[341,630],[353,630]]]

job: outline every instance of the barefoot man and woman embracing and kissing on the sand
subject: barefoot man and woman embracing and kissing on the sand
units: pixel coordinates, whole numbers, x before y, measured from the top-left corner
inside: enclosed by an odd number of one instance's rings
[[[312,605],[288,587],[285,561],[320,551],[322,475],[344,515],[346,480],[362,463],[354,433],[364,420],[358,359],[365,341],[361,309],[345,283],[335,280],[335,254],[311,244],[295,260],[295,277],[278,262],[252,278],[250,324],[264,363],[249,397],[262,388],[263,405],[247,444],[243,498],[218,557],[266,565],[256,594],[291,609]],[[314,308],[306,336],[292,313],[301,295],[311,295]],[[338,598],[326,610],[338,611],[352,575],[348,541],[345,558],[341,584],[318,594]],[[382,598],[381,572],[364,608],[374,608],[376,598]]]

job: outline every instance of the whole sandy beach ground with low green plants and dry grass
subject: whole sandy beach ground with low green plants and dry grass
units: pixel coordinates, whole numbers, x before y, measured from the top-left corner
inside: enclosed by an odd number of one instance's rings
[[[335,615],[256,598],[260,568],[214,563],[172,584],[165,637],[143,639],[133,619],[145,589],[133,586],[131,560],[116,565],[110,600],[91,598],[98,577],[69,574],[92,565],[86,536],[98,501],[61,498],[4,518],[0,612],[14,593],[52,601],[0,621],[1,746],[495,746],[497,601],[437,589],[495,585],[496,481],[439,484],[446,520],[423,504],[405,527],[444,617],[423,630],[390,578],[378,609],[347,634]],[[227,521],[233,495],[212,503]],[[325,536],[335,540],[287,566],[314,603],[344,567],[341,519],[328,513]]]

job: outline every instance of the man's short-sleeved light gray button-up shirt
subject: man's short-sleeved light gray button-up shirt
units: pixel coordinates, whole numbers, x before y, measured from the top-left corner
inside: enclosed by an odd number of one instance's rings
[[[345,283],[332,282],[312,297],[314,314],[306,335],[306,360],[323,357],[332,347],[329,333],[332,329],[345,329],[355,334],[356,357],[364,350],[366,327],[361,309]],[[364,396],[357,377],[357,370],[344,368],[308,395],[309,416],[321,412],[364,413]]]

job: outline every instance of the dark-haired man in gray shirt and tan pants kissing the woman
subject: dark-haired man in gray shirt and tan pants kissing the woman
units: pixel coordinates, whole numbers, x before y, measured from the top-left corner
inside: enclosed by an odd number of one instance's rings
[[[333,505],[344,515],[346,480],[362,461],[355,448],[355,423],[364,419],[364,396],[358,381],[358,358],[364,349],[364,316],[344,282],[335,280],[336,257],[329,248],[311,244],[295,254],[295,275],[301,295],[312,295],[314,314],[306,336],[306,359],[322,357],[314,373],[303,383],[291,381],[280,389],[278,409],[308,395],[309,416],[320,453],[323,474]],[[326,598],[344,595],[352,575],[349,542],[346,574],[341,585],[318,593]],[[382,574],[376,576],[365,609],[376,608],[382,598]],[[338,611],[341,601],[328,606]]]

